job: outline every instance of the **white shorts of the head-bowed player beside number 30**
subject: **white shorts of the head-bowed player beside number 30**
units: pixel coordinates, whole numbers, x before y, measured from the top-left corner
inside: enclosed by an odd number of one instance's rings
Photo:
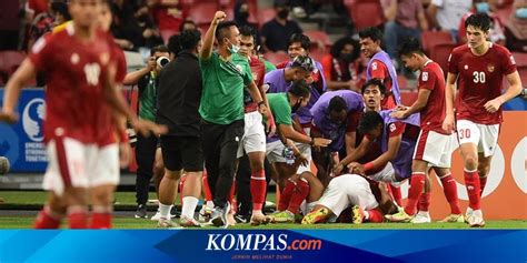
[[[421,130],[417,139],[414,160],[428,162],[435,168],[450,168],[453,151],[457,148],[457,138],[430,130]]]

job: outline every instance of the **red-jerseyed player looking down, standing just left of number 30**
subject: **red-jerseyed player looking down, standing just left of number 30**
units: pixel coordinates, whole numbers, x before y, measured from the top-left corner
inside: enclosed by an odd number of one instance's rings
[[[428,212],[416,214],[419,199],[429,203],[429,191],[425,191],[425,181],[429,182],[429,168],[441,179],[445,196],[450,204],[450,215],[444,222],[463,222],[461,210],[457,195],[456,181],[450,173],[451,152],[456,138],[443,130],[445,118],[445,74],[440,65],[431,61],[420,48],[417,39],[408,39],[400,48],[399,55],[405,67],[411,71],[420,71],[419,93],[410,107],[399,107],[391,117],[405,119],[410,114],[420,113],[419,139],[417,140],[411,166],[411,182],[408,202],[404,210],[394,215],[386,215],[390,221],[425,223],[430,222]],[[426,189],[426,188],[425,188]]]

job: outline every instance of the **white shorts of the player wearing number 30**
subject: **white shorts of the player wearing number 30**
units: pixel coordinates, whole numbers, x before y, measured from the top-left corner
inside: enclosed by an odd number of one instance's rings
[[[485,156],[494,155],[498,144],[499,124],[478,124],[468,120],[459,120],[457,125],[457,136],[459,144],[474,143],[478,148],[478,153]]]

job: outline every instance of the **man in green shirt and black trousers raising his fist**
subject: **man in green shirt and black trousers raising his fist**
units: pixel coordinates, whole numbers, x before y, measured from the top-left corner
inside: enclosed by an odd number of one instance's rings
[[[228,196],[236,173],[236,155],[243,135],[243,88],[267,114],[267,107],[252,80],[246,58],[238,54],[240,32],[232,21],[222,22],[226,13],[217,11],[203,38],[199,55],[203,93],[199,105],[202,119],[201,140],[207,180],[215,209],[210,222],[227,226]],[[212,52],[213,39],[218,41]]]

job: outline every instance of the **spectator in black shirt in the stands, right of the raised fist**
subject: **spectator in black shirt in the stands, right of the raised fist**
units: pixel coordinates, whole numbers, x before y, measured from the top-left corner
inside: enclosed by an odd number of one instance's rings
[[[285,0],[275,0],[277,17],[266,22],[261,28],[261,42],[266,51],[286,51],[288,40],[294,33],[301,33],[302,29],[296,21],[289,20],[289,7]]]

